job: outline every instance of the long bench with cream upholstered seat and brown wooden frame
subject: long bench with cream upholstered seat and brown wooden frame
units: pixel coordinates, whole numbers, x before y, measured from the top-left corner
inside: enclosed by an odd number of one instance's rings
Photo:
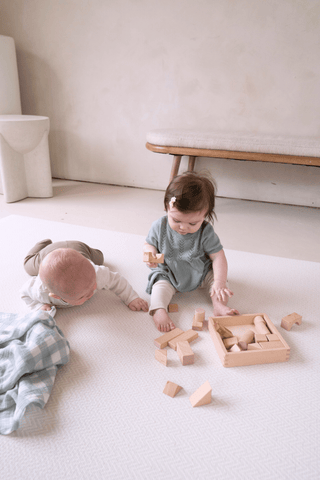
[[[320,137],[160,129],[147,133],[146,147],[152,152],[173,155],[170,181],[178,174],[181,157],[185,155],[189,157],[189,171],[193,171],[197,157],[320,167]]]

